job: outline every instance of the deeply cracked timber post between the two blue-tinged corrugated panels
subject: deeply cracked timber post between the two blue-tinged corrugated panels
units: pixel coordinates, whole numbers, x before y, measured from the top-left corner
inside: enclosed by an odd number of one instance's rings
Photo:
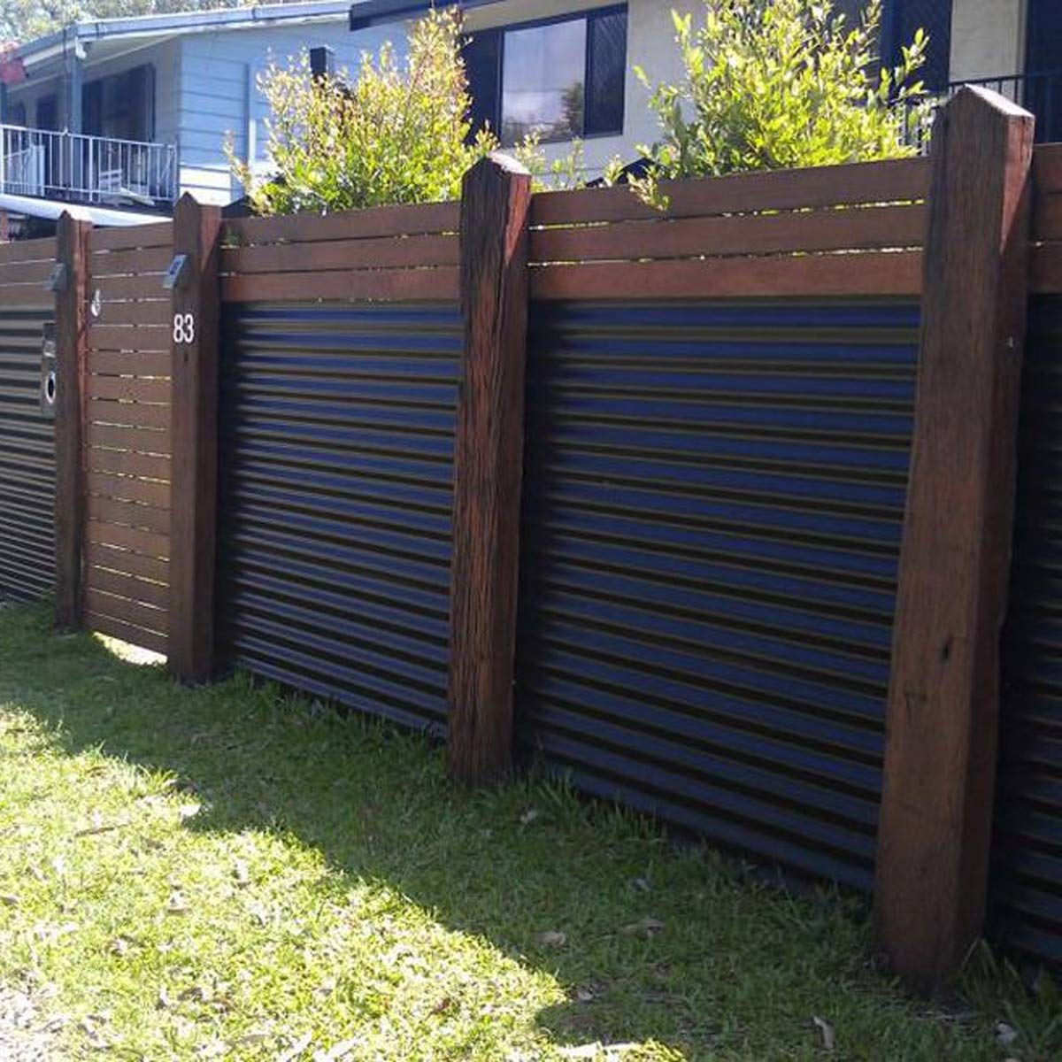
[[[465,174],[448,761],[470,785],[512,763],[530,206],[530,174],[504,155]]]

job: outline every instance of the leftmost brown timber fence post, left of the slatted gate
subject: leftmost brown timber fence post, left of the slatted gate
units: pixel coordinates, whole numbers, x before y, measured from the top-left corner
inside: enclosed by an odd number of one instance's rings
[[[55,624],[82,623],[85,550],[85,372],[88,348],[88,234],[59,218],[55,291]]]

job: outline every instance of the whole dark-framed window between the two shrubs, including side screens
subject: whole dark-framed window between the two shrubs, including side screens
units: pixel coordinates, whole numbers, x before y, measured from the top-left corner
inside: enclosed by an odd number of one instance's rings
[[[502,143],[622,133],[627,10],[484,30],[465,45],[473,135]]]

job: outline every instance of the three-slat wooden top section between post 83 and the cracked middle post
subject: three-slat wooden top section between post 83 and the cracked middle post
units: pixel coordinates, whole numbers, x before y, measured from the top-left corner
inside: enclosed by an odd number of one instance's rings
[[[458,203],[230,221],[222,298],[457,299],[459,222]]]

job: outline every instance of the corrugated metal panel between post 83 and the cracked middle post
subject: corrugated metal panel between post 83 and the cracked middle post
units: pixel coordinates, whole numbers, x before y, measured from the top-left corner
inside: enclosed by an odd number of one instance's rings
[[[256,674],[443,733],[458,307],[226,312],[223,645]]]

